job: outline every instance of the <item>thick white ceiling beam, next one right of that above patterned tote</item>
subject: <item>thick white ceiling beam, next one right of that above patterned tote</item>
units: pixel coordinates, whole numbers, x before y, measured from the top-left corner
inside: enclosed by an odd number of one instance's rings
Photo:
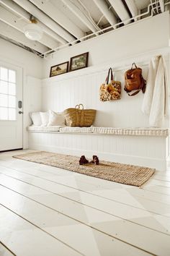
[[[127,9],[125,9],[125,5],[120,0],[109,0],[109,3],[112,4],[112,7],[115,9],[115,12],[120,17],[120,20],[124,24],[128,24],[129,22],[124,22],[125,20],[130,19],[130,15],[128,14]]]

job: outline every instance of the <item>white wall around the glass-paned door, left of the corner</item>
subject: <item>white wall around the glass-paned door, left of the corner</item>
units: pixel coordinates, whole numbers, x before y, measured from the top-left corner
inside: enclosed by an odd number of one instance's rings
[[[30,119],[30,111],[40,111],[41,90],[40,79],[42,78],[42,59],[35,54],[25,51],[6,40],[0,39],[0,61],[4,64],[12,64],[22,68],[23,81],[23,146],[27,148],[27,130]],[[32,77],[32,81],[27,80]],[[37,92],[38,91],[38,92]],[[39,106],[37,107],[37,103]]]

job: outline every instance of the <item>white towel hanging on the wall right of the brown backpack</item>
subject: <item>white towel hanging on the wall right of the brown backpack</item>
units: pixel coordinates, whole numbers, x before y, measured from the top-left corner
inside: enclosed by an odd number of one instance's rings
[[[161,127],[168,114],[168,84],[162,56],[154,57],[149,64],[142,111],[149,116],[151,127]]]

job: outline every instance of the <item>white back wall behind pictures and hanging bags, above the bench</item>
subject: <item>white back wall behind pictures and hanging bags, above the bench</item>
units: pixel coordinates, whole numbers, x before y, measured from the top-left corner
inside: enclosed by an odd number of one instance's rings
[[[53,59],[44,61],[45,77],[49,76],[50,66],[86,51],[89,51],[89,65],[93,67],[44,79],[42,110],[63,111],[83,103],[85,108],[97,109],[94,125],[149,127],[148,116],[140,110],[143,93],[129,97],[123,90],[124,74],[135,61],[143,68],[143,77],[146,78],[148,62],[157,54],[164,54],[169,66],[168,46],[169,14],[166,12],[58,51],[53,55]],[[115,70],[115,80],[122,82],[122,98],[119,101],[101,102],[99,87],[104,82],[109,67]],[[169,127],[169,119],[165,120],[163,127]]]

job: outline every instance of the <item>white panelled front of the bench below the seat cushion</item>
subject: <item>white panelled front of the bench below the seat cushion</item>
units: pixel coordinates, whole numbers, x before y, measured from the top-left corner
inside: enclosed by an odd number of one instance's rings
[[[29,132],[29,148],[166,170],[166,137]]]

